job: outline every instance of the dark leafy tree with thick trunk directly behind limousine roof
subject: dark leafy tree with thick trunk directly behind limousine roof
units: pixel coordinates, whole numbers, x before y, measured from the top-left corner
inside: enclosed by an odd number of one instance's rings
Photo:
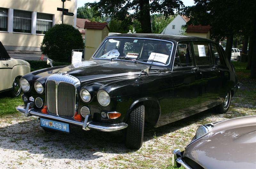
[[[174,15],[174,11],[180,11],[184,7],[181,0],[100,0],[85,5],[98,10],[101,16],[109,15],[111,18],[128,22],[137,19],[143,33],[152,33],[150,13],[163,13],[167,17]],[[133,12],[130,13],[130,11]]]

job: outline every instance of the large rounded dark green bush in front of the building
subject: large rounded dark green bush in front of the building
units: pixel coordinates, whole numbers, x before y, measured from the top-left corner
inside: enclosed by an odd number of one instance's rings
[[[73,49],[83,49],[80,32],[72,25],[56,24],[45,35],[40,49],[44,55],[56,62],[71,62]]]

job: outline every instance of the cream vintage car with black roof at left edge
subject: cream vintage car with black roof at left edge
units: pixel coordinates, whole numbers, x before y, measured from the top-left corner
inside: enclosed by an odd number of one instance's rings
[[[13,59],[0,42],[0,93],[10,91],[10,96],[20,95],[20,77],[30,72],[30,64]]]

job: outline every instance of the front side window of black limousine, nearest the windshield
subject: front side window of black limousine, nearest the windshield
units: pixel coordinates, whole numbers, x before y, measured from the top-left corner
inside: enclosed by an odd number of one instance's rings
[[[193,66],[191,53],[189,50],[189,43],[183,42],[178,44],[173,66],[174,67]]]

